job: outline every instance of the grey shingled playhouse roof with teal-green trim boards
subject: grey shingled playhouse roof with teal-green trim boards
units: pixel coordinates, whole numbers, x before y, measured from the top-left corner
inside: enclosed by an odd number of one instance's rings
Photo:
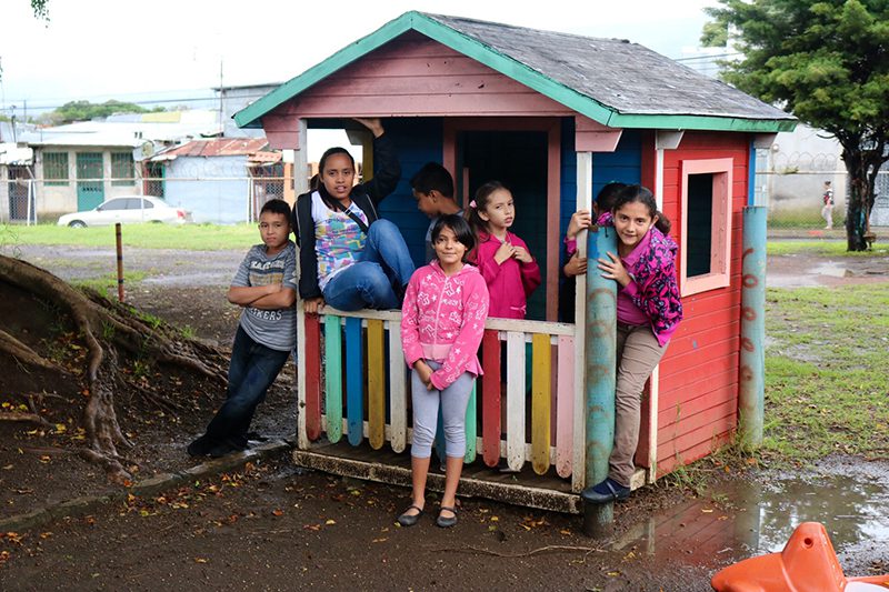
[[[267,113],[411,30],[612,128],[778,132],[796,126],[780,109],[638,43],[413,11],[280,86],[234,121],[260,127]]]

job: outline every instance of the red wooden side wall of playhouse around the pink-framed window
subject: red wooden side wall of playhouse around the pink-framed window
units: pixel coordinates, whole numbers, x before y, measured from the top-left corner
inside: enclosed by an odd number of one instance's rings
[[[643,157],[642,165],[643,177],[650,175],[649,187],[653,187],[653,134],[649,138],[651,141],[646,144],[651,147],[651,153]],[[680,243],[681,161],[722,158],[731,158],[735,163],[730,285],[682,299],[685,320],[660,364],[659,474],[706,456],[725,444],[738,422],[741,237],[742,210],[748,195],[748,136],[686,132],[678,149],[665,150],[662,209],[672,222],[672,237]],[[681,258],[680,252],[678,264]]]

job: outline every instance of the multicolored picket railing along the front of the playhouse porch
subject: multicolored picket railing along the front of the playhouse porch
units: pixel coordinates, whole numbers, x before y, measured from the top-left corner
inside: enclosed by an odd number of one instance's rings
[[[387,443],[393,452],[408,450],[410,377],[401,313],[327,308],[320,315],[300,311],[299,318],[300,449],[326,437],[331,443],[346,438],[354,446],[367,441],[374,450]],[[505,459],[515,470],[530,463],[538,474],[555,468],[571,478],[583,462],[575,423],[582,417],[577,357],[573,324],[489,319],[481,347],[485,374],[467,410],[466,461],[481,456],[496,466]],[[572,480],[577,486],[582,469],[579,473]]]

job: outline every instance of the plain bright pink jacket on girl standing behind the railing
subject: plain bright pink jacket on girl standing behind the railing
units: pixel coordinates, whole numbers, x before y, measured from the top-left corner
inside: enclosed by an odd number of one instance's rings
[[[525,241],[511,232],[507,232],[507,241],[516,247],[528,249]],[[540,285],[540,268],[537,261],[521,263],[508,259],[498,265],[493,254],[502,243],[491,234],[479,237],[476,250],[476,264],[488,284],[491,294],[490,317],[506,319],[525,319],[528,297]]]

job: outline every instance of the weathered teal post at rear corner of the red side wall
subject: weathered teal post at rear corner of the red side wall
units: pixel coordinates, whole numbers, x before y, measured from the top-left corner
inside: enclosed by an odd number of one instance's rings
[[[738,433],[746,448],[762,444],[766,399],[766,217],[767,208],[762,205],[743,210]]]

